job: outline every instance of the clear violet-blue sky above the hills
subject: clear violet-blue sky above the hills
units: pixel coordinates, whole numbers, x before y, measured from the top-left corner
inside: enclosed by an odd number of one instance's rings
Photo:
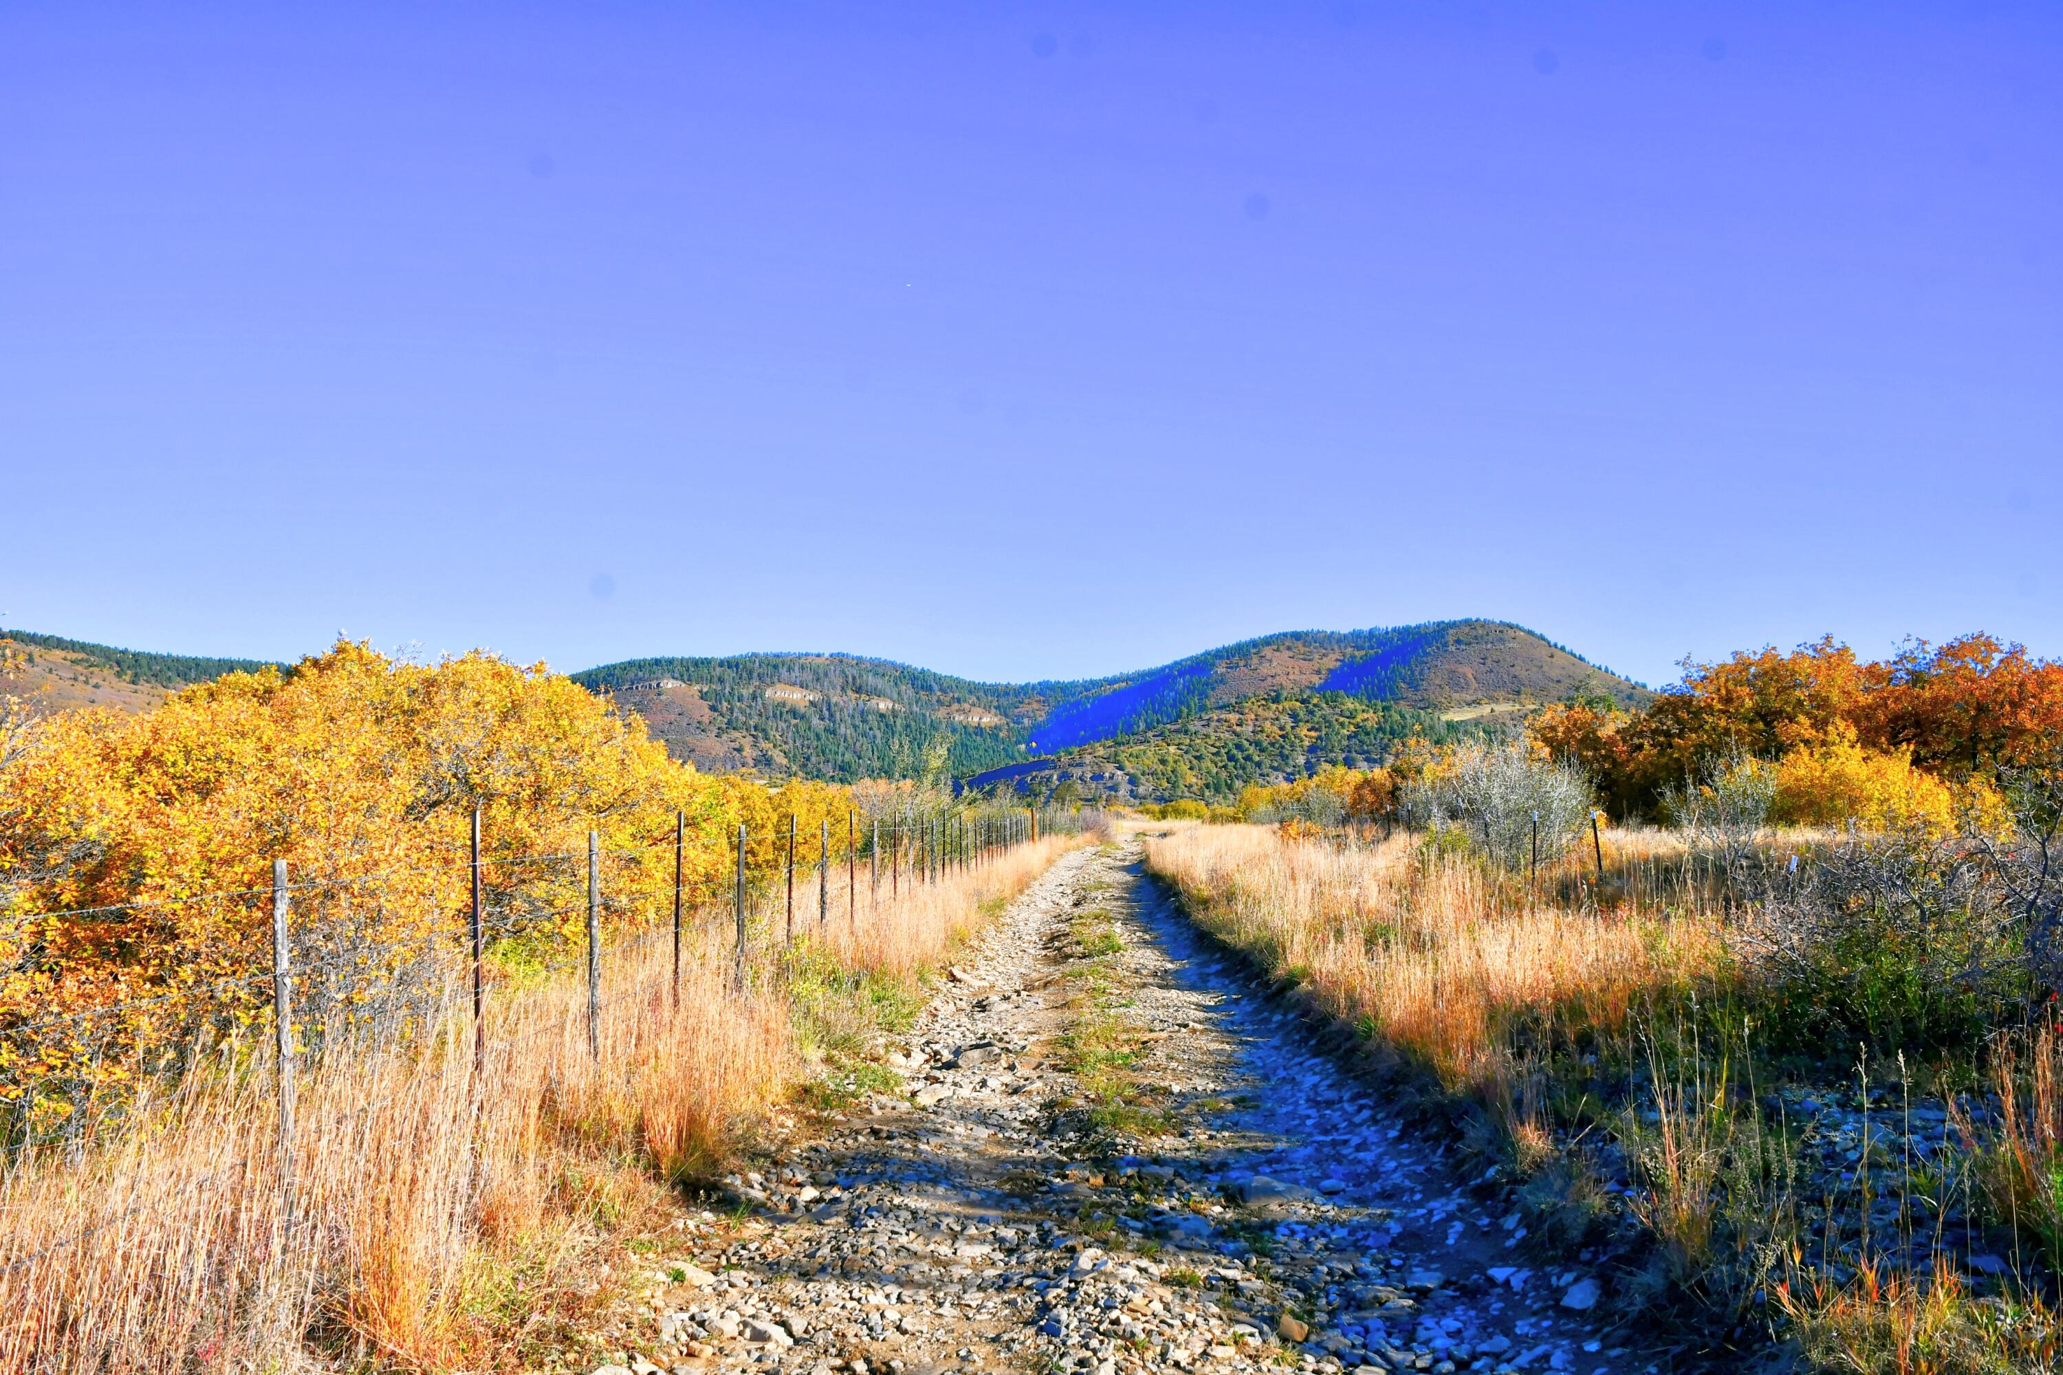
[[[2063,6],[0,6],[0,625],[2063,653]]]

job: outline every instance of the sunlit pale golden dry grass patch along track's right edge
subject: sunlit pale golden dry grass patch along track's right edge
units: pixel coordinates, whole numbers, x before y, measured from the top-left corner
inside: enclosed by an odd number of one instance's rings
[[[1533,893],[1405,835],[1339,847],[1263,827],[1188,827],[1149,839],[1147,864],[1205,928],[1446,1091],[1479,1099],[1525,1150],[1541,1130],[1531,1101],[1541,1047],[1626,1043],[1659,998],[1725,957],[1714,915],[1652,901],[1696,897],[1679,847],[1644,833],[1609,845],[1603,907],[1578,856]]]

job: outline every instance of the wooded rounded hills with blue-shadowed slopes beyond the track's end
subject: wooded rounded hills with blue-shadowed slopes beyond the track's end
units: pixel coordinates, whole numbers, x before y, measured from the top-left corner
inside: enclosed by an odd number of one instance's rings
[[[1498,621],[1289,631],[1093,680],[974,682],[838,653],[650,658],[574,678],[703,769],[914,777],[932,748],[974,787],[1116,798],[1227,796],[1549,701],[1648,697]]]

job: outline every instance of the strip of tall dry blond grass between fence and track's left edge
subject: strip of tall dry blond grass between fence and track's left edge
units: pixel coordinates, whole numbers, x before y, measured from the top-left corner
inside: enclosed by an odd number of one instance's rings
[[[906,884],[899,903],[862,880],[856,913],[836,884],[831,919],[798,934],[819,961],[908,983],[1067,845]],[[679,1002],[664,936],[609,950],[598,1055],[576,967],[489,1002],[479,1072],[458,998],[411,1043],[318,1064],[297,1084],[291,1189],[264,1047],[221,1045],[120,1136],[0,1181],[0,1371],[281,1369],[309,1344],[380,1367],[528,1365],[536,1303],[489,1311],[499,1272],[576,1262],[625,1175],[712,1169],[798,1082],[769,915],[745,992],[728,913],[691,932]]]

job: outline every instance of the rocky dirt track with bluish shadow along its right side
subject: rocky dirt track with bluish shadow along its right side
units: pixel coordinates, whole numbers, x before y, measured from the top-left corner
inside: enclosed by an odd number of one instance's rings
[[[1060,860],[831,1115],[679,1225],[652,1371],[1646,1371],[1440,1142],[1312,1049],[1120,841]],[[607,1367],[604,1367],[607,1369]]]

